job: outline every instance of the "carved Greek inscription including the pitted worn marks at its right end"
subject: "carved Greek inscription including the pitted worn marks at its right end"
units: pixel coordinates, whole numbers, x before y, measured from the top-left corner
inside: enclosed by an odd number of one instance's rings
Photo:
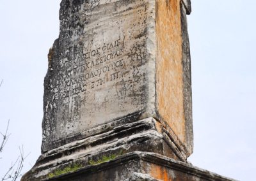
[[[143,45],[134,44],[125,51],[124,40],[118,38],[90,50],[87,47],[80,41],[69,47],[66,57],[60,60],[62,71],[56,98],[68,98],[121,78],[124,81],[126,76],[140,82],[140,66],[146,62]]]

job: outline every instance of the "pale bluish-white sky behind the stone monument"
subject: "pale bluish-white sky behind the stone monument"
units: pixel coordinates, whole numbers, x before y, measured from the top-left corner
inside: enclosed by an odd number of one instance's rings
[[[0,131],[10,140],[0,177],[30,152],[24,172],[40,156],[47,54],[58,37],[60,0],[0,4]],[[188,17],[193,80],[194,154],[200,168],[238,180],[256,170],[256,1],[192,0]],[[254,179],[253,179],[254,178]]]

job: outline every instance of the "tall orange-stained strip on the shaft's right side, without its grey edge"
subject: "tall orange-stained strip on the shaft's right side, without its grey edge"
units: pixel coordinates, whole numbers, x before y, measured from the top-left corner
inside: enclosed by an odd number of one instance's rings
[[[183,105],[180,0],[156,1],[157,109],[183,143],[186,129]]]

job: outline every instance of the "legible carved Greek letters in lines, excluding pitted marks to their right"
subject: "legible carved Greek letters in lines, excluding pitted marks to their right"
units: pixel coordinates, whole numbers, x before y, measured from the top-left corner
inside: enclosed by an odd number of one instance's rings
[[[56,97],[68,98],[119,78],[124,68],[123,48],[120,38],[91,50],[86,50],[83,42],[68,48],[66,58],[59,62],[62,83]],[[112,71],[115,73],[108,74]]]

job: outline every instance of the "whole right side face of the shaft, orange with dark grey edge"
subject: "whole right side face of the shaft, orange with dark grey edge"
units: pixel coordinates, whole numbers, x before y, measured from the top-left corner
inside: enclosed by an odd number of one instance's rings
[[[156,110],[172,138],[193,150],[191,71],[186,14],[179,1],[157,1]],[[188,78],[187,78],[188,77]]]

